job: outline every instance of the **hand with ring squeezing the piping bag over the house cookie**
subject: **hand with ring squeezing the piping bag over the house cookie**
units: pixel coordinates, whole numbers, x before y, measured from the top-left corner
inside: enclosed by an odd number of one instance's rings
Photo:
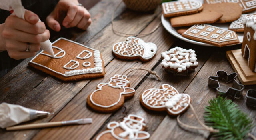
[[[46,30],[44,22],[38,22],[36,14],[26,10],[25,20],[10,15],[4,24],[0,25],[2,44],[0,48],[7,50],[9,56],[16,60],[29,58],[40,50],[40,42],[50,38],[49,30]],[[26,52],[28,43],[31,48]]]

